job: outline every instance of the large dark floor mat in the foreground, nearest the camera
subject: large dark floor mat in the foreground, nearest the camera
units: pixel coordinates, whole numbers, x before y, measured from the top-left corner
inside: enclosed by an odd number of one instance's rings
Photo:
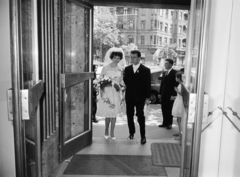
[[[154,166],[151,156],[74,155],[64,174],[167,176],[164,167]]]

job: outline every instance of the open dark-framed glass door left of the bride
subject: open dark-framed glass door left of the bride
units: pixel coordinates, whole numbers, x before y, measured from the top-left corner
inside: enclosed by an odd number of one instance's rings
[[[62,0],[60,141],[61,161],[92,143],[92,22],[93,7]]]

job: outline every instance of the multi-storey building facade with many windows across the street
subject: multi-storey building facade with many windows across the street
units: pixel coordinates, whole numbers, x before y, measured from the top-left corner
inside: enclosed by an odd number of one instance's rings
[[[117,26],[125,35],[124,44],[135,43],[145,61],[153,61],[157,49],[176,44],[180,59],[185,55],[187,10],[111,7]]]

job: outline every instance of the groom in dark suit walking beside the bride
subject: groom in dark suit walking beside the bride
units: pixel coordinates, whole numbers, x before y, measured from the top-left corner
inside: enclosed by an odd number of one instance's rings
[[[144,106],[150,104],[151,93],[151,73],[150,69],[140,64],[141,53],[138,50],[131,51],[131,62],[125,68],[123,80],[126,85],[126,107],[129,128],[129,139],[134,138],[134,111],[136,108],[136,116],[140,126],[141,144],[146,143],[145,136],[145,116]]]

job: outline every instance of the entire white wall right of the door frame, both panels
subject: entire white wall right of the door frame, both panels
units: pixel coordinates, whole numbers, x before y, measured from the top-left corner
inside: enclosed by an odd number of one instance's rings
[[[240,176],[240,135],[218,108],[240,127],[240,121],[227,110],[230,106],[240,113],[239,8],[239,0],[212,0],[205,91],[213,114],[208,117],[212,124],[202,133],[200,177]]]

